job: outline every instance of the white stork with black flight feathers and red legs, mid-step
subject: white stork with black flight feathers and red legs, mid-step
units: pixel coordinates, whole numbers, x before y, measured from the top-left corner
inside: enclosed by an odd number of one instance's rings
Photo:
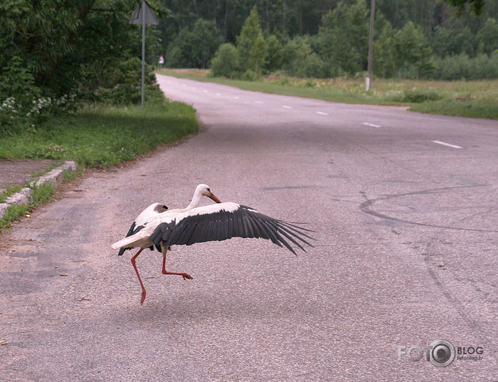
[[[207,196],[216,205],[199,206],[201,198]],[[266,216],[251,207],[234,202],[221,202],[206,184],[199,184],[194,192],[192,202],[185,209],[170,209],[153,214],[143,222],[141,228],[130,236],[116,241],[112,248],[141,248],[134,257],[132,264],[142,288],[141,304],[146,298],[146,289],[139,276],[135,259],[144,248],[157,246],[163,255],[162,273],[182,276],[192,279],[187,273],[172,273],[165,269],[166,251],[172,245],[192,245],[205,241],[221,241],[232,237],[256,237],[269,239],[277,246],[286,246],[295,254],[288,241],[304,250],[300,243],[312,246],[305,239],[313,239],[306,232],[313,232],[288,221],[281,221]],[[305,232],[306,231],[306,232]],[[287,241],[288,240],[288,241]],[[305,251],[305,250],[304,250]]]

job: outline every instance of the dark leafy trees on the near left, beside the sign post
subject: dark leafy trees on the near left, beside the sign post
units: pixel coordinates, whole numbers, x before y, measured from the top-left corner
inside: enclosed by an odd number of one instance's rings
[[[134,0],[2,0],[0,96],[92,95],[134,81],[141,35],[128,20],[136,7]]]

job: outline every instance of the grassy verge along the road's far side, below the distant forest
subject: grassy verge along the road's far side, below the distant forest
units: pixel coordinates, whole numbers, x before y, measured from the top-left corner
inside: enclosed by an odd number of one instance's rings
[[[259,81],[209,77],[207,70],[157,70],[159,74],[221,83],[244,90],[316,98],[348,104],[409,106],[421,113],[498,119],[498,80],[415,81],[375,79],[365,92],[363,79],[295,79],[266,76]]]

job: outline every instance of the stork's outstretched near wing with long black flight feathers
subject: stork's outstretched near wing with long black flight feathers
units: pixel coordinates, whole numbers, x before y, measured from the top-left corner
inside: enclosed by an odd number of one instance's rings
[[[150,236],[150,240],[157,246],[161,242],[168,246],[192,245],[204,241],[221,241],[231,237],[260,237],[269,239],[277,246],[286,246],[295,253],[287,240],[302,250],[301,243],[309,244],[305,238],[313,239],[304,231],[299,223],[290,223],[266,216],[244,205],[240,205],[233,212],[221,209],[209,214],[199,214],[182,218],[178,224],[161,223]],[[306,250],[304,250],[306,252]]]

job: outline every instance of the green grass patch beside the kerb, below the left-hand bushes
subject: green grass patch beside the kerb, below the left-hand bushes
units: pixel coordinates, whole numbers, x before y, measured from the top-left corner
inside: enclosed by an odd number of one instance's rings
[[[107,167],[198,129],[194,109],[179,102],[151,102],[143,109],[86,106],[0,138],[0,159],[75,160],[83,167]]]

